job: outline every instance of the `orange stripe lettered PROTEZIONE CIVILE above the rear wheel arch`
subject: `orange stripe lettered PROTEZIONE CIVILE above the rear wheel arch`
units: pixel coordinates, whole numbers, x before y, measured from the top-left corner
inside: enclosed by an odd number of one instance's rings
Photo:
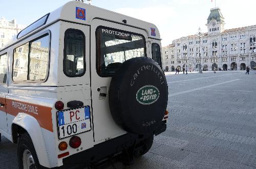
[[[42,128],[53,132],[51,111],[52,107],[6,99],[6,112],[8,114],[17,116],[19,112],[24,112],[33,116]]]

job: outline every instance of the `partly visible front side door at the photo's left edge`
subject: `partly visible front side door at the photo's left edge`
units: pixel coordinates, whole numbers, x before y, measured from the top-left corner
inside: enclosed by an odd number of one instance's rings
[[[7,115],[6,115],[6,95],[8,94],[7,88],[7,53],[0,54],[0,129],[8,133],[7,128]]]

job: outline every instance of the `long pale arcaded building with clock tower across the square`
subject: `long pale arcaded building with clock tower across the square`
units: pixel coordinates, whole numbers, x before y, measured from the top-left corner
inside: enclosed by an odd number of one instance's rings
[[[224,17],[219,8],[210,10],[207,19],[208,32],[182,37],[162,48],[162,63],[165,71],[245,70],[256,69],[256,25],[224,29]]]

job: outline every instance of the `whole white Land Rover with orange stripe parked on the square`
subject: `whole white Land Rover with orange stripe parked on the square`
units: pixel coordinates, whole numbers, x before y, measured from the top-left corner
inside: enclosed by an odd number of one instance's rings
[[[166,129],[157,27],[67,3],[0,49],[0,133],[19,168],[129,163]]]

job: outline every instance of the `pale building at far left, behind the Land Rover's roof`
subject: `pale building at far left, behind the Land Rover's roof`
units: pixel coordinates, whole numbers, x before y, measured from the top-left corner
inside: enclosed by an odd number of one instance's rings
[[[25,27],[25,25],[17,24],[16,19],[8,21],[4,17],[0,18],[0,47],[7,44]]]

